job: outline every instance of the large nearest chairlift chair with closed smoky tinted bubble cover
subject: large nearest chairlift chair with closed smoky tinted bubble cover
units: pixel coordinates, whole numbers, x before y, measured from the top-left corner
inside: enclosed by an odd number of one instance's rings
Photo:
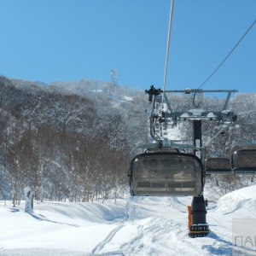
[[[194,154],[138,154],[128,171],[131,195],[200,195],[201,160]]]

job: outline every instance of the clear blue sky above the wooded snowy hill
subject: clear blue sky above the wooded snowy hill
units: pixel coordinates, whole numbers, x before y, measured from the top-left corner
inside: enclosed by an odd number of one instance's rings
[[[0,0],[0,74],[162,88],[170,0]],[[256,19],[255,0],[176,0],[166,90],[198,88]],[[256,25],[202,89],[256,89]]]

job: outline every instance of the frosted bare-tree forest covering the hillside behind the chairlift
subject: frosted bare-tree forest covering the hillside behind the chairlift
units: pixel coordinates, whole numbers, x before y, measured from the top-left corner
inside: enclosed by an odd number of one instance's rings
[[[147,89],[147,88],[146,88]],[[170,97],[173,108],[188,97]],[[223,100],[206,98],[207,104]],[[209,145],[223,152],[227,141],[256,138],[255,94],[236,94],[230,108],[239,129],[226,129]],[[30,186],[37,200],[96,201],[117,198],[127,189],[127,156],[148,140],[148,96],[112,83],[79,80],[47,86],[0,77],[0,200],[23,198]],[[249,111],[249,112],[248,112]],[[203,140],[217,134],[203,124]],[[172,129],[171,129],[172,130]],[[191,143],[189,122],[179,137]]]

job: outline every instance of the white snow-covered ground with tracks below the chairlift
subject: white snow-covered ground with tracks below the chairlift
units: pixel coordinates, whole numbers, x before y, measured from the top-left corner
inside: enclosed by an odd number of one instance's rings
[[[1,201],[0,255],[231,255],[232,218],[256,218],[256,186],[207,199],[210,233],[194,239],[188,236],[191,197],[44,201],[34,203],[34,213],[24,212],[24,202]]]

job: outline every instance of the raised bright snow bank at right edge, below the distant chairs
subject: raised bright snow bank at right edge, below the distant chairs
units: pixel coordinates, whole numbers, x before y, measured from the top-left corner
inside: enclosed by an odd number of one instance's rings
[[[217,212],[227,214],[235,212],[245,206],[247,206],[247,208],[254,207],[256,209],[256,185],[238,189],[222,196],[218,200]]]

